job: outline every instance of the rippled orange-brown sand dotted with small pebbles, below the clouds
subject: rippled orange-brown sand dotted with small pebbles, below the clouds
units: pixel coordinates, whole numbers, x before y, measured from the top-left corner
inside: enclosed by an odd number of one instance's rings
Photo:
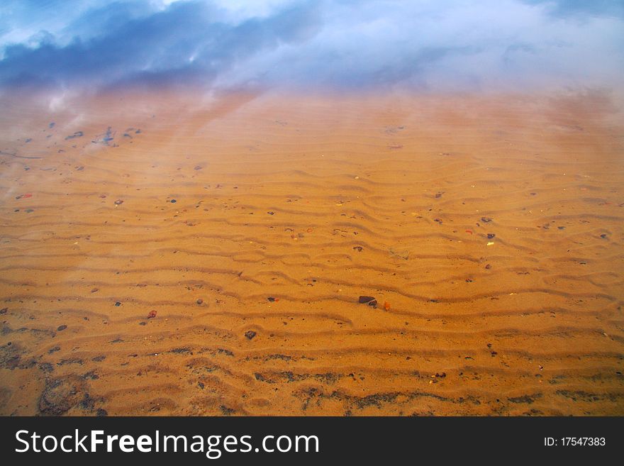
[[[0,414],[624,414],[608,96],[2,100]]]

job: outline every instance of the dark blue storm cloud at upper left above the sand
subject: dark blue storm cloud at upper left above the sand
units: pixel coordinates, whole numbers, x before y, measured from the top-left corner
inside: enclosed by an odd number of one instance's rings
[[[179,2],[141,15],[138,4],[111,4],[87,12],[74,28],[102,31],[67,45],[40,33],[38,43],[7,45],[0,61],[5,84],[110,84],[135,78],[211,80],[233,62],[280,43],[305,40],[318,28],[313,4],[278,11],[238,24],[218,21],[216,9],[202,2]]]

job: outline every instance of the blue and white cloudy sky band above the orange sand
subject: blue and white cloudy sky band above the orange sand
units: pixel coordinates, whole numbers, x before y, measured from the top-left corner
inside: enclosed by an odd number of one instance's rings
[[[3,0],[0,89],[621,87],[624,0]]]

